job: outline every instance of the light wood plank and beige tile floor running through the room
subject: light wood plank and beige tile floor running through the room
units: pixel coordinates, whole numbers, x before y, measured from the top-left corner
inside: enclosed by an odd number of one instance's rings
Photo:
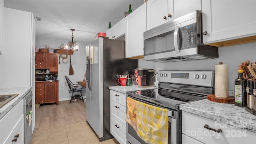
[[[30,144],[119,144],[112,138],[99,142],[86,123],[86,102],[60,101],[36,110],[36,126]]]

